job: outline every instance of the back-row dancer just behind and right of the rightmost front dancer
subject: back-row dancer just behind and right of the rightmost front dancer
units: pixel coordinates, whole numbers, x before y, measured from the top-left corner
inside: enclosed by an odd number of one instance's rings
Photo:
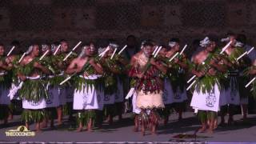
[[[246,58],[246,56],[241,58],[241,55],[244,54],[244,50],[240,46],[238,46],[238,42],[236,41],[236,36],[234,34],[228,34],[228,38],[224,42],[231,42],[230,46],[225,50],[226,54],[226,63],[228,66],[226,78],[226,86],[225,86],[225,99],[222,101],[222,109],[221,109],[221,125],[225,124],[225,108],[228,108],[229,118],[228,124],[234,124],[234,106],[240,105],[242,99],[246,99],[248,94],[246,94],[246,90],[244,89],[244,85],[246,83],[245,77],[241,75],[242,70],[248,66],[246,63],[250,63],[250,60]],[[249,60],[249,62],[247,62]],[[244,92],[242,94],[242,91]]]

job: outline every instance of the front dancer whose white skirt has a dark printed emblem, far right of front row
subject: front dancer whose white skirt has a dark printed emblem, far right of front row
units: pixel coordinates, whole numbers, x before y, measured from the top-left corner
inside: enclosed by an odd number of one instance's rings
[[[199,131],[204,132],[208,123],[209,131],[213,132],[217,123],[219,90],[221,88],[218,71],[223,71],[224,67],[218,64],[218,53],[214,52],[216,50],[215,42],[206,37],[200,42],[200,45],[204,50],[193,56],[192,73],[198,78],[196,78],[190,106],[198,112],[198,117],[202,122],[202,128]]]

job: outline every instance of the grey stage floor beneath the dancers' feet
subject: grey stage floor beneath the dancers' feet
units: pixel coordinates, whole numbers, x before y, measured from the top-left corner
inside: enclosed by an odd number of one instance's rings
[[[256,142],[256,114],[250,114],[246,122],[242,122],[242,115],[234,116],[236,123],[234,126],[218,127],[214,134],[198,133],[198,142]],[[158,129],[158,135],[150,134],[142,136],[140,132],[133,131],[133,121],[130,114],[124,115],[122,122],[114,121],[112,126],[104,123],[101,130],[94,132],[76,132],[73,124],[67,121],[57,130],[44,129],[41,133],[36,133],[34,137],[6,137],[7,130],[15,130],[22,123],[18,122],[18,116],[10,122],[9,127],[1,127],[0,141],[2,142],[193,142],[194,138],[173,138],[178,134],[194,134],[199,128],[197,117],[192,112],[183,114],[183,119],[177,121],[178,114],[170,115],[170,122],[167,126],[162,123]],[[66,120],[66,118],[64,119]],[[30,126],[34,130],[34,125]]]

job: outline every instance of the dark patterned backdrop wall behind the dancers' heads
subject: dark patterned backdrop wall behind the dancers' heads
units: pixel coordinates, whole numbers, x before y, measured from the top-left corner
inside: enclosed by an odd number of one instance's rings
[[[0,0],[0,41],[14,39],[23,46],[31,40],[71,46],[80,40],[102,42],[126,36],[167,42],[228,31],[244,33],[256,44],[255,0]]]

